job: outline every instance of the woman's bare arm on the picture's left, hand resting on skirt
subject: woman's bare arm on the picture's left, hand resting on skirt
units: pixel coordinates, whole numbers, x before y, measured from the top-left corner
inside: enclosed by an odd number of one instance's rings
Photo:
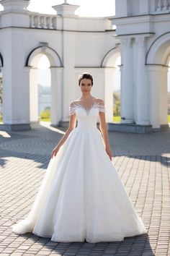
[[[55,156],[58,153],[58,150],[61,148],[61,146],[63,145],[63,143],[67,140],[68,135],[71,133],[71,131],[76,127],[76,114],[72,114],[70,116],[70,121],[69,121],[69,126],[68,129],[66,130],[65,135],[63,135],[62,139],[60,140],[60,142],[58,142],[58,145],[55,146],[55,148],[53,149],[52,153],[51,153],[51,158],[53,158],[53,156]]]

